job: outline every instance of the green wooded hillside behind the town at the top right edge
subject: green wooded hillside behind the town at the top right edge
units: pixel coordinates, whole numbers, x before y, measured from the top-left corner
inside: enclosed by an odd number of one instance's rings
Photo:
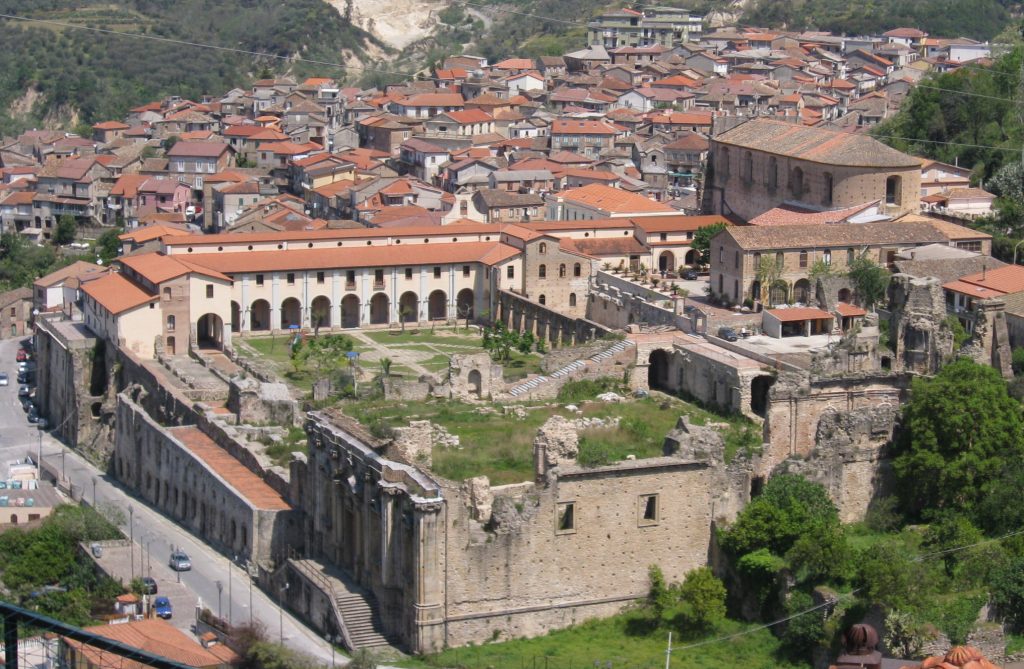
[[[1006,27],[1009,10],[1016,5],[1010,0],[756,0],[744,12],[743,23],[846,35],[911,27],[941,37],[987,40]]]

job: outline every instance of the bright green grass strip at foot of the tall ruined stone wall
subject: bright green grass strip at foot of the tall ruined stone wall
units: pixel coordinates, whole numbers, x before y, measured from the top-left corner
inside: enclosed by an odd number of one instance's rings
[[[638,567],[639,569],[639,567]],[[735,634],[753,625],[727,621],[715,636]],[[496,630],[497,631],[497,630]],[[452,669],[662,669],[666,666],[668,630],[650,632],[644,616],[628,612],[620,616],[577,625],[531,639],[452,649],[425,658],[411,658],[406,667]],[[711,638],[711,637],[709,637]],[[686,650],[700,638],[673,635],[673,669],[810,669],[811,664],[792,664],[777,656],[779,642],[766,629]]]

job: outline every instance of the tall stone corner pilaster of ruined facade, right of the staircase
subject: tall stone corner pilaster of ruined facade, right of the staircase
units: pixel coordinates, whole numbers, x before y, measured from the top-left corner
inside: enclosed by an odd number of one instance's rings
[[[444,646],[444,503],[417,504],[413,544],[416,601],[412,646],[416,653],[435,653]]]

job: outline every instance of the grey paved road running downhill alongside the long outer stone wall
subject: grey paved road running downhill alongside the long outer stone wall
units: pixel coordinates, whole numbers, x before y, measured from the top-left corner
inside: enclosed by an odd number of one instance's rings
[[[40,430],[28,422],[17,399],[17,363],[14,360],[17,347],[17,340],[0,341],[0,371],[10,375],[10,385],[0,386],[0,462],[5,465],[27,455],[35,459],[41,443],[44,462],[56,469],[62,468],[71,483],[81,487],[85,501],[96,502],[101,507],[113,505],[122,510],[125,518],[122,530],[125,536],[134,536],[138,551],[135,558],[136,574],[141,576],[142,561],[145,550],[148,549],[153,575],[160,583],[162,592],[165,591],[165,584],[166,591],[177,591],[176,583],[170,581],[174,576],[166,569],[166,565],[172,545],[183,548],[191,557],[193,570],[181,574],[184,593],[177,595],[175,592],[176,622],[183,622],[188,617],[184,610],[199,602],[216,613],[217,582],[220,581],[222,592],[219,605],[224,618],[230,617],[238,624],[248,622],[252,617],[264,625],[267,636],[271,639],[284,638],[287,645],[313,655],[325,664],[330,663],[330,644],[288,612],[282,616],[275,602],[258,588],[250,587],[251,581],[244,569],[229,567],[226,557],[169,518],[148,508],[143,502],[126,494],[113,479],[52,438],[48,432],[42,432],[40,440]],[[182,607],[179,603],[182,601],[188,605]],[[338,660],[340,664],[341,658]]]

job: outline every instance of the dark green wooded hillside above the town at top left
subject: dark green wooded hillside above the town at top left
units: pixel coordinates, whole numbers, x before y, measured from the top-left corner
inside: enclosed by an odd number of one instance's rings
[[[323,0],[0,0],[0,12],[327,62],[340,62],[346,51],[361,53],[372,39]],[[221,94],[264,68],[283,72],[293,65],[11,19],[0,20],[0,134],[44,120],[70,124],[76,114],[86,123],[121,118],[165,95]],[[303,64],[294,70],[312,72]]]

